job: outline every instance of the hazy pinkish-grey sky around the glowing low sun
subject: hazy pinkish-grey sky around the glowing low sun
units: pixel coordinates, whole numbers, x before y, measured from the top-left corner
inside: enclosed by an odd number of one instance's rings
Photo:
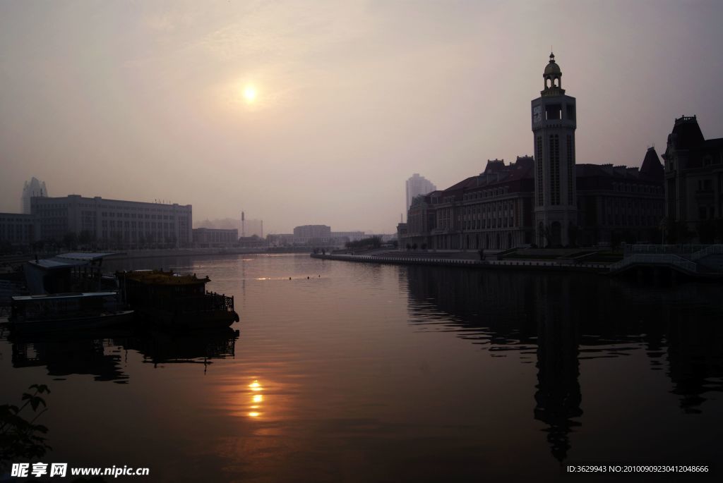
[[[412,173],[446,188],[532,154],[550,45],[578,162],[639,166],[683,114],[722,137],[722,19],[719,0],[0,0],[0,211],[36,176],[265,232],[393,232]]]

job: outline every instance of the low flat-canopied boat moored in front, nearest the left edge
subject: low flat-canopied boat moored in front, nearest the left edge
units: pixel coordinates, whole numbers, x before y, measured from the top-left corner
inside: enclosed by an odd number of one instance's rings
[[[14,330],[69,331],[132,321],[133,310],[119,292],[17,295],[11,298],[9,323]]]

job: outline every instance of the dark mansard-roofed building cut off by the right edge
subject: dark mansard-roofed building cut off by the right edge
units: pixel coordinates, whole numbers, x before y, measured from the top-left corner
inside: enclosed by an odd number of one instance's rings
[[[671,241],[723,241],[723,138],[705,139],[696,116],[677,118],[663,159]]]

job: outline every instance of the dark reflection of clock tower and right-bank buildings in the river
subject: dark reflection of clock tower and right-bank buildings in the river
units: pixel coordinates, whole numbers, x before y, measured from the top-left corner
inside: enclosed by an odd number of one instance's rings
[[[517,352],[522,362],[534,354],[534,419],[544,423],[557,461],[568,458],[570,433],[584,424],[581,359],[605,364],[643,350],[651,370],[666,371],[685,413],[701,412],[707,394],[723,391],[718,285],[646,287],[593,274],[420,266],[400,276],[411,323],[429,324],[436,312],[446,330],[490,352]]]

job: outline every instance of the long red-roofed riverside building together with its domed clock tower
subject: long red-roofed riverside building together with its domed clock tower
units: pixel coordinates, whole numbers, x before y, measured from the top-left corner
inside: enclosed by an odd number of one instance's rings
[[[550,55],[532,101],[535,155],[417,197],[399,225],[400,248],[503,250],[526,245],[617,245],[659,240],[663,168],[649,149],[641,169],[577,164],[576,100]]]

